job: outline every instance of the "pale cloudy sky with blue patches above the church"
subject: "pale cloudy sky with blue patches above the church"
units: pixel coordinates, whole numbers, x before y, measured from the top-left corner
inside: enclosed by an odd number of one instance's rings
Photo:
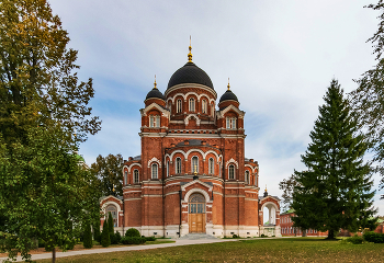
[[[93,114],[102,129],[80,146],[91,164],[99,155],[140,155],[139,108],[154,87],[165,92],[188,61],[207,72],[219,96],[230,89],[246,112],[246,157],[259,162],[266,185],[281,196],[279,182],[301,162],[310,142],[318,106],[332,78],[345,92],[375,65],[372,44],[379,13],[372,0],[101,1],[50,0],[79,50],[80,80],[93,79]],[[379,190],[380,176],[373,176]],[[374,205],[384,215],[382,192]]]

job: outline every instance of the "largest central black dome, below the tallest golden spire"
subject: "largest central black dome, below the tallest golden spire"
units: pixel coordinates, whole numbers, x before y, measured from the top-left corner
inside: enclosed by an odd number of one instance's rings
[[[182,68],[179,68],[170,78],[168,89],[181,83],[203,84],[213,89],[210,76],[194,62],[187,62]]]

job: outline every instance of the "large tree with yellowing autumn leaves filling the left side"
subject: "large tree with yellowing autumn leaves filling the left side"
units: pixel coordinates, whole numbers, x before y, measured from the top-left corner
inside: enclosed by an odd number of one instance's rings
[[[55,261],[55,247],[72,245],[97,201],[76,152],[101,123],[68,42],[45,0],[0,2],[0,235],[10,258],[30,259],[41,238]]]

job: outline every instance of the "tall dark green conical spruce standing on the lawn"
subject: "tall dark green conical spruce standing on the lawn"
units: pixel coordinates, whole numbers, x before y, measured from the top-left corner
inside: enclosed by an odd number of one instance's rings
[[[363,163],[368,144],[337,80],[330,82],[324,100],[309,135],[312,142],[302,156],[307,171],[294,172],[292,207],[294,227],[328,230],[334,239],[340,228],[357,231],[371,226],[376,210],[371,168]]]

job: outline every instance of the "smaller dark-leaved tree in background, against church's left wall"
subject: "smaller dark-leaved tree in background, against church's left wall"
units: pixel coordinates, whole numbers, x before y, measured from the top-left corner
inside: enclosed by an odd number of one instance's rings
[[[100,180],[100,193],[104,196],[123,196],[123,157],[122,155],[98,156],[91,164],[91,172]]]

